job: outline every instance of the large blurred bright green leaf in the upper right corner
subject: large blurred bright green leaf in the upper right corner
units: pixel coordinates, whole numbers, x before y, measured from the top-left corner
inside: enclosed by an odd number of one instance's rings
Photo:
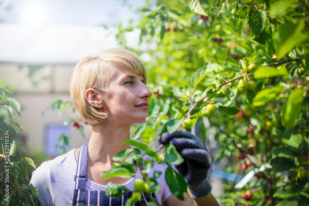
[[[286,56],[296,45],[308,45],[309,36],[302,32],[303,28],[304,21],[294,19],[273,33],[273,47],[278,59]]]

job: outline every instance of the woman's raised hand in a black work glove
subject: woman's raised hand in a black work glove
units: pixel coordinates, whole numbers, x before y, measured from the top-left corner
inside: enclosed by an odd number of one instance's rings
[[[173,134],[163,133],[158,138],[159,144],[172,144],[184,158],[176,169],[188,182],[188,191],[193,198],[205,197],[211,191],[207,178],[210,168],[208,151],[204,142],[190,132],[176,131]]]

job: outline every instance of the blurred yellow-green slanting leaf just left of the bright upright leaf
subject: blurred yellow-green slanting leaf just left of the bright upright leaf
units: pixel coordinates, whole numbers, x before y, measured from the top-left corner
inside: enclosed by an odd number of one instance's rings
[[[269,100],[273,99],[282,90],[281,85],[273,86],[268,89],[260,90],[256,96],[252,99],[252,106],[258,107]]]

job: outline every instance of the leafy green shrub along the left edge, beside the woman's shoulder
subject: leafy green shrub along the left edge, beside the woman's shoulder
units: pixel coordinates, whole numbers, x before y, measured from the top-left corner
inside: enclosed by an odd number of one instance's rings
[[[17,157],[16,142],[14,136],[18,137],[18,131],[21,132],[23,127],[15,121],[8,121],[8,117],[14,116],[15,112],[20,116],[20,104],[12,98],[5,96],[5,93],[11,93],[9,90],[0,88],[0,197],[1,205],[40,205],[38,200],[39,191],[36,187],[28,185],[28,170],[26,163],[34,169],[36,165],[28,157]]]

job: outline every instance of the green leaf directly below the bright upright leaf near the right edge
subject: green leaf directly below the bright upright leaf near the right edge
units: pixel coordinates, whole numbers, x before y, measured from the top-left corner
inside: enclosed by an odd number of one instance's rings
[[[286,129],[283,132],[283,143],[294,149],[302,149],[303,136],[296,129]]]

